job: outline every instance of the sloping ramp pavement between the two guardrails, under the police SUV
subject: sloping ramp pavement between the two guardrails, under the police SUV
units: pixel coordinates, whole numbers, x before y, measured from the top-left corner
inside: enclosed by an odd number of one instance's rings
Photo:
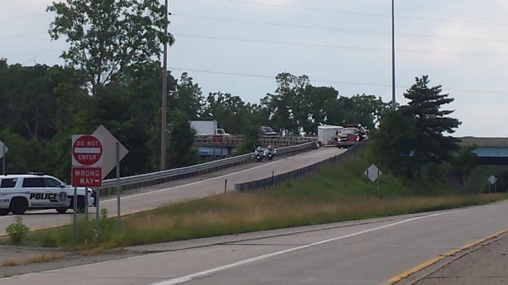
[[[234,190],[235,183],[263,179],[271,176],[272,171],[274,174],[280,174],[302,168],[341,154],[344,151],[338,148],[321,148],[262,164],[252,163],[250,168],[247,169],[238,170],[238,168],[231,168],[202,177],[195,177],[184,185],[178,185],[178,183],[174,185],[175,183],[173,182],[170,183],[170,186],[159,185],[150,187],[148,190],[141,190],[140,193],[121,197],[121,214],[126,215],[128,213],[160,207],[172,202],[223,193],[226,179],[228,180],[228,190],[232,191]],[[115,216],[117,211],[116,198],[101,201],[100,207],[107,208],[109,215]],[[95,212],[95,208],[90,207],[89,212]],[[13,215],[0,217],[0,235],[5,234],[5,228],[15,221],[14,217]],[[72,222],[72,217],[72,210],[63,215],[56,213],[54,209],[27,211],[23,215],[23,222],[30,229],[41,229],[69,224]]]

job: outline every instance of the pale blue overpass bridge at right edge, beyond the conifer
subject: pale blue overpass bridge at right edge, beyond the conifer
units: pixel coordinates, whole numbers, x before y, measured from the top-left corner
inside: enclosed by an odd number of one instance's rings
[[[462,146],[476,146],[479,164],[508,165],[508,137],[458,137]]]

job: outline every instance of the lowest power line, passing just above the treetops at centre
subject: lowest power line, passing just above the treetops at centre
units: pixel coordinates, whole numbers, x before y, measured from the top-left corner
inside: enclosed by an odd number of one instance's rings
[[[255,78],[268,78],[274,79],[274,76],[269,75],[259,75],[259,74],[246,74],[246,73],[233,73],[233,72],[220,72],[216,70],[209,69],[191,69],[191,68],[179,68],[179,67],[169,67],[171,70],[180,70],[184,72],[200,72],[200,73],[209,73],[209,74],[220,74],[220,75],[229,75],[229,76],[244,76],[244,77],[255,77]],[[323,83],[335,83],[335,84],[348,84],[348,85],[363,85],[363,86],[379,86],[379,87],[392,87],[390,84],[378,84],[378,83],[366,83],[366,82],[348,82],[348,81],[334,81],[334,80],[322,80],[322,79],[310,79],[310,81],[315,82],[323,82]],[[407,86],[396,86],[399,89],[407,89]],[[508,91],[492,91],[492,90],[471,90],[471,89],[452,89],[452,88],[442,88],[447,91],[457,91],[457,92],[473,92],[473,93],[491,93],[491,94],[508,94]]]

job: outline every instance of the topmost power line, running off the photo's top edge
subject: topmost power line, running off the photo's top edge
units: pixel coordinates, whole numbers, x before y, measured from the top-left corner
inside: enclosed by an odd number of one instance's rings
[[[301,7],[301,6],[292,6],[292,5],[283,5],[283,4],[269,4],[269,3],[259,3],[259,2],[250,2],[243,0],[225,0],[231,3],[242,3],[248,5],[260,5],[260,6],[270,6],[270,7],[278,7],[278,8],[287,8],[287,9],[299,9],[299,10],[308,10],[308,11],[317,11],[317,12],[329,12],[329,13],[340,13],[340,14],[350,14],[350,15],[361,15],[361,16],[376,16],[376,17],[392,17],[389,14],[377,14],[377,13],[364,13],[364,12],[354,12],[354,11],[344,11],[344,10],[330,10],[330,9],[320,9],[320,8],[310,8],[310,7]],[[508,23],[489,23],[489,22],[480,22],[480,21],[459,21],[459,20],[450,20],[443,18],[429,18],[429,17],[415,17],[415,16],[395,16],[395,18],[401,19],[412,19],[412,20],[424,20],[424,21],[440,21],[440,22],[451,22],[451,23],[463,23],[463,24],[478,24],[478,25],[500,25],[500,26],[508,26]]]

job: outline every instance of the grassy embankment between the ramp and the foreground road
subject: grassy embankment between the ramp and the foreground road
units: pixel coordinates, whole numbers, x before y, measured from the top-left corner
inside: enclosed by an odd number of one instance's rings
[[[101,235],[93,231],[95,221],[81,221],[77,241],[73,239],[72,227],[62,227],[31,232],[25,243],[80,249],[116,248],[391,216],[508,199],[506,194],[450,194],[458,192],[451,191],[445,185],[428,182],[405,185],[389,171],[384,171],[380,183],[382,199],[378,200],[374,198],[376,184],[368,181],[363,174],[372,162],[371,157],[370,150],[365,149],[355,157],[307,179],[288,182],[263,192],[226,193],[130,215],[123,218],[121,230],[116,229],[114,219],[104,219],[101,222]],[[441,195],[422,197],[415,196],[415,193]]]

